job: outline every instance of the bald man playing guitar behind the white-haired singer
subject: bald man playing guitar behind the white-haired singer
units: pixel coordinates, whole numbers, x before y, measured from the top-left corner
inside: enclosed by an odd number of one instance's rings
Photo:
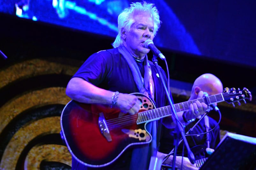
[[[202,74],[196,80],[194,81],[194,84],[192,86],[192,91],[190,95],[190,99],[196,99],[195,97],[198,95],[200,91],[207,92],[208,95],[215,95],[223,92],[223,85],[219,78],[217,78],[215,75],[206,73]],[[190,128],[192,128],[196,122],[200,119],[201,116],[197,117],[197,119],[188,124],[185,127],[185,132],[187,132]],[[204,119],[202,119],[197,126],[194,127],[193,132],[190,134],[199,134],[199,133],[205,133],[211,129],[213,129],[216,126],[216,128],[209,132],[208,134],[200,135],[200,136],[187,136],[187,141],[189,144],[189,147],[191,148],[191,151],[194,153],[195,160],[200,160],[203,158],[207,158],[209,156],[209,150],[214,151],[217,144],[220,142],[220,128],[219,125],[217,125],[217,122],[208,117],[205,116]],[[206,127],[209,127],[206,128]],[[173,135],[172,135],[172,129],[166,129],[163,127],[162,129],[162,138],[160,139],[160,147],[159,152],[157,153],[158,157],[161,157],[162,159],[165,157],[166,154],[169,154],[171,150],[173,149]],[[207,136],[208,135],[208,136]],[[208,139],[208,140],[207,140]],[[182,153],[182,147],[183,142],[180,143],[178,147],[177,154]],[[185,147],[185,146],[184,146]],[[185,152],[186,152],[185,148]],[[208,152],[207,152],[208,151]],[[182,169],[199,169],[196,168],[196,165],[191,164],[190,161],[187,158],[187,153],[184,153],[184,159],[183,159],[183,165]],[[176,166],[178,168],[181,168],[181,156],[176,157]],[[170,164],[172,165],[172,155],[169,157],[168,160],[165,161],[164,164]]]

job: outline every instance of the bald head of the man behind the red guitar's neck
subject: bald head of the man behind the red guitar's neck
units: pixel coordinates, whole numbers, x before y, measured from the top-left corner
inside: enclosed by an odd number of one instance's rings
[[[197,95],[200,91],[214,95],[223,92],[223,85],[215,75],[206,73],[199,76],[193,84],[191,95]]]

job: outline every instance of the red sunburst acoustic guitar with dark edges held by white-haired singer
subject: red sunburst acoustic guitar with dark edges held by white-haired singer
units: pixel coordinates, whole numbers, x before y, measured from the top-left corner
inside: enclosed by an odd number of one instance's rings
[[[128,147],[151,142],[152,136],[146,130],[146,124],[171,115],[171,106],[155,108],[144,94],[132,94],[141,101],[141,109],[134,115],[118,117],[120,109],[75,100],[64,107],[61,136],[78,162],[88,167],[104,167],[113,163]],[[252,100],[248,89],[226,88],[223,93],[174,104],[173,107],[176,112],[182,112],[189,110],[189,105],[196,100],[210,105],[222,101],[240,104],[239,101],[245,99]]]

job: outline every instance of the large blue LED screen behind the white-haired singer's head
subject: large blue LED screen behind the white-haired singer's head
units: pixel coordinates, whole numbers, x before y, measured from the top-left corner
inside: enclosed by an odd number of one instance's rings
[[[107,37],[131,0],[0,0],[0,12]],[[151,0],[162,21],[162,49],[256,67],[256,1]]]

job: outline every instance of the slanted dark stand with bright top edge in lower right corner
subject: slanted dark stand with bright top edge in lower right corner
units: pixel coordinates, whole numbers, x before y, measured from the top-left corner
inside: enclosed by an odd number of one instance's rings
[[[256,138],[226,133],[200,170],[255,170]]]

